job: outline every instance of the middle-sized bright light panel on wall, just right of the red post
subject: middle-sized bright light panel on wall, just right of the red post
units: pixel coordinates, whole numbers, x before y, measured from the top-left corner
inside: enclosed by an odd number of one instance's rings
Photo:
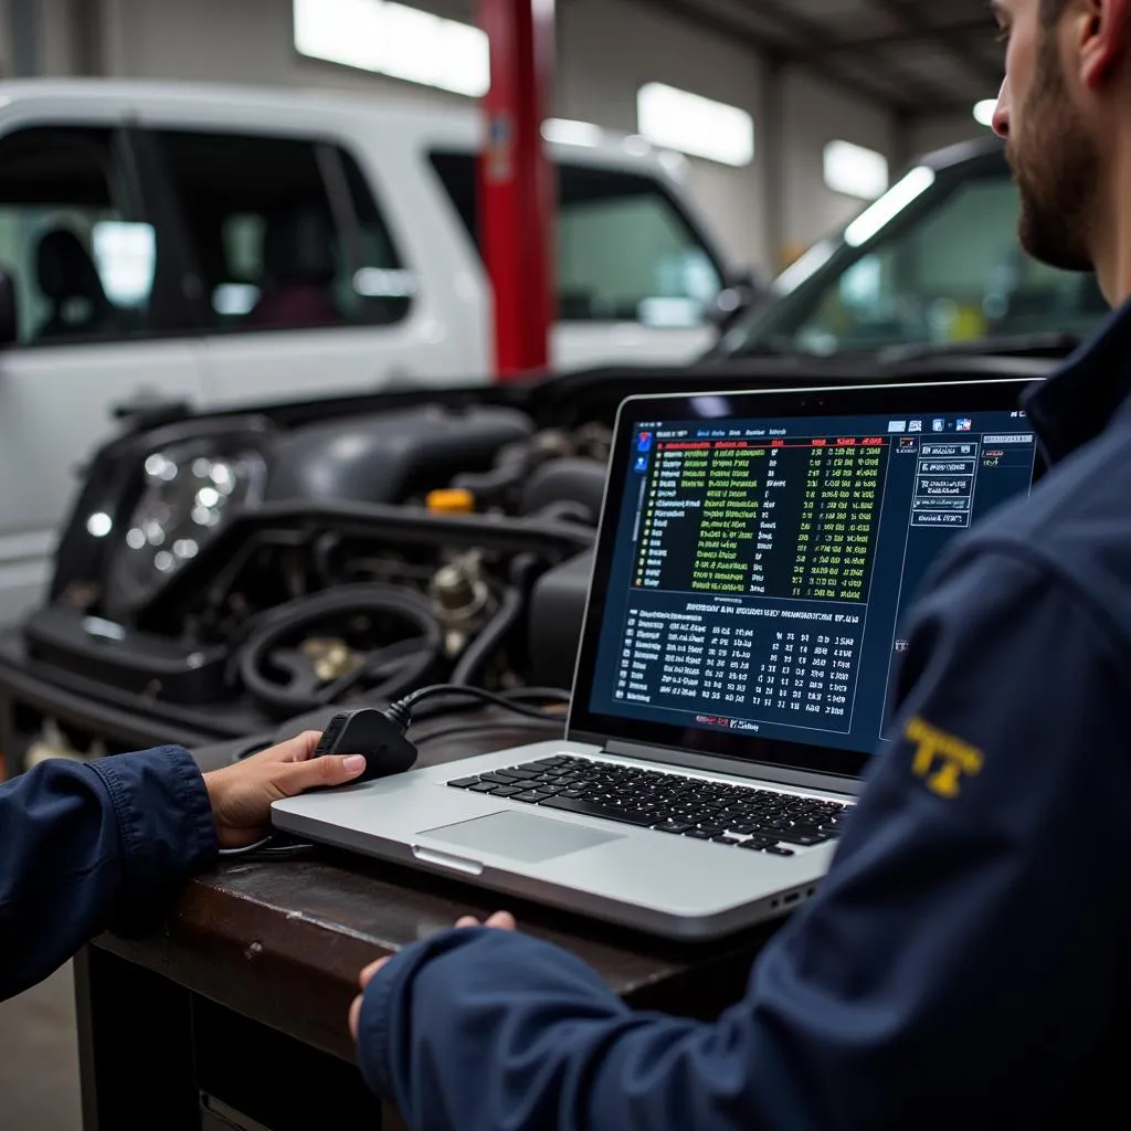
[[[646,83],[637,94],[637,118],[640,133],[661,148],[723,165],[749,165],[754,159],[754,120],[737,106]]]

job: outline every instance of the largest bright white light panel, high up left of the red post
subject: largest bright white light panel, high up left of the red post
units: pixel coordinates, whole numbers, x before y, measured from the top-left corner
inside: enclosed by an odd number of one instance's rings
[[[294,45],[311,59],[473,98],[491,86],[485,32],[389,0],[294,0]]]

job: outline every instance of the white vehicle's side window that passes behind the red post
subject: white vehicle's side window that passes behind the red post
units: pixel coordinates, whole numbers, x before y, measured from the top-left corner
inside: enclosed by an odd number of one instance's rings
[[[475,157],[438,152],[431,162],[478,247]],[[556,167],[558,317],[702,325],[722,288],[719,269],[663,187],[637,173]]]

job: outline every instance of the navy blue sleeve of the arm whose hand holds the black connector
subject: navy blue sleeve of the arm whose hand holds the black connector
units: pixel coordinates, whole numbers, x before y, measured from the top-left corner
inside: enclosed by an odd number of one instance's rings
[[[0,785],[0,1000],[216,852],[204,779],[179,746],[43,762]]]

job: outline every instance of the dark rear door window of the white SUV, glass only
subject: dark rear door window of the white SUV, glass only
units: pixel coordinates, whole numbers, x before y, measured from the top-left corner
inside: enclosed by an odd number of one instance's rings
[[[158,135],[208,327],[390,325],[415,277],[351,154],[316,139]]]

